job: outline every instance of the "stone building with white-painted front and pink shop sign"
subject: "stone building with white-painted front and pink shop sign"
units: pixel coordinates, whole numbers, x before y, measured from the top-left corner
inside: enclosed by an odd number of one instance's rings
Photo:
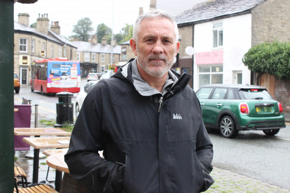
[[[289,8],[287,0],[216,0],[193,6],[175,17],[181,43],[177,67],[193,75],[195,91],[203,84],[256,84],[242,57],[258,43],[290,40]],[[192,56],[187,47],[194,48]],[[264,76],[268,78],[260,85],[290,111],[289,94],[281,94],[290,92],[287,80]]]

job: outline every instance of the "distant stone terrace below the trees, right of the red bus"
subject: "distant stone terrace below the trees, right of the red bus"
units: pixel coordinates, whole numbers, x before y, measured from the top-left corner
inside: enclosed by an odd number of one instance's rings
[[[72,43],[78,48],[77,61],[81,65],[81,76],[86,77],[90,72],[104,72],[108,70],[111,64],[111,48],[112,45],[107,44],[105,36],[102,43],[97,43],[97,35],[90,38],[90,42],[73,41]],[[119,65],[121,46],[116,45],[113,40],[113,64]]]

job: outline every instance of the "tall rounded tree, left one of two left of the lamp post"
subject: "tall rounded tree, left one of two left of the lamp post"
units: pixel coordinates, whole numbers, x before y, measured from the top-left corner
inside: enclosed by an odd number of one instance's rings
[[[89,35],[94,30],[92,24],[93,22],[88,17],[79,19],[79,21],[77,21],[77,25],[73,25],[73,33],[75,33],[75,35],[72,37],[74,39],[79,39],[79,41],[87,42]]]

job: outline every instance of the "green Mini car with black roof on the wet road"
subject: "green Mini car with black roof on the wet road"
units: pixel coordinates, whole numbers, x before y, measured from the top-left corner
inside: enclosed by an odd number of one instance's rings
[[[276,135],[285,127],[282,105],[266,88],[243,84],[209,84],[196,92],[206,128],[232,138],[239,130],[262,130]]]

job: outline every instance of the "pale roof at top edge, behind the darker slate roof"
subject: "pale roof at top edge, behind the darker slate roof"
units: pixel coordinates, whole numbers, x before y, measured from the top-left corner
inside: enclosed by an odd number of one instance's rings
[[[173,16],[184,12],[188,8],[208,0],[157,0],[156,9],[161,9],[171,13]]]

